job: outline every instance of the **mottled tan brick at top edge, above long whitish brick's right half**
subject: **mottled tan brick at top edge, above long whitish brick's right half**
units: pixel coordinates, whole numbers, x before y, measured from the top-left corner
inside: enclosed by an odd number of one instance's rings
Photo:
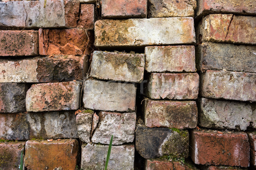
[[[149,0],[148,16],[160,17],[194,17],[196,0]]]

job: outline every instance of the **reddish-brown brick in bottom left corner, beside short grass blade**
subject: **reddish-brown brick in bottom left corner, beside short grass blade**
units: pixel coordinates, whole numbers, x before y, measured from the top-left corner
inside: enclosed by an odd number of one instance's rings
[[[24,147],[25,142],[0,142],[0,169],[20,169],[21,152],[24,154]]]

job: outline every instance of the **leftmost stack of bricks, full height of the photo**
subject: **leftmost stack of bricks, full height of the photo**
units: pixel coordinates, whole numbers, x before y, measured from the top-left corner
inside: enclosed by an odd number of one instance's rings
[[[22,153],[28,170],[76,168],[75,111],[93,51],[94,6],[0,2],[1,170],[23,166]]]

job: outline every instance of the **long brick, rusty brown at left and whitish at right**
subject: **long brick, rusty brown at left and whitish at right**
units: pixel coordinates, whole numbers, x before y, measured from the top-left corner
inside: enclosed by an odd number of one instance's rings
[[[97,47],[192,44],[195,42],[192,17],[98,20]]]

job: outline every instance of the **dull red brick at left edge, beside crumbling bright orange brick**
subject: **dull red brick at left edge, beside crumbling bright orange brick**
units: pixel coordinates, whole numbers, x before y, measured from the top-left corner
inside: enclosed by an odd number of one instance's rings
[[[0,42],[0,56],[38,55],[38,31],[0,31]]]

